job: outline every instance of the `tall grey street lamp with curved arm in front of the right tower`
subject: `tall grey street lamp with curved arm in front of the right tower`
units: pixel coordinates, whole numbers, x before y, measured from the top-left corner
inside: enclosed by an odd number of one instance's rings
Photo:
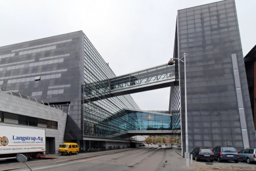
[[[184,61],[182,61],[181,59],[184,58]],[[185,157],[186,157],[186,166],[189,166],[189,153],[188,153],[188,115],[187,115],[187,76],[186,76],[186,53],[184,53],[184,57],[182,57],[181,59],[178,59],[179,61],[184,62],[184,82],[185,82],[185,137],[186,137],[186,153],[185,153]],[[176,59],[176,58],[172,58],[172,59]],[[174,64],[174,61],[170,59],[170,61],[168,62],[168,65],[172,65]]]

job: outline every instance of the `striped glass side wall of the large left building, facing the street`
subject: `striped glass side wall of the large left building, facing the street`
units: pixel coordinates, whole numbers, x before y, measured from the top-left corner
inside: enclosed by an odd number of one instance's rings
[[[124,138],[134,118],[118,116],[124,109],[140,109],[130,95],[111,97],[109,78],[115,74],[84,35],[84,135]],[[101,87],[101,88],[99,88]]]

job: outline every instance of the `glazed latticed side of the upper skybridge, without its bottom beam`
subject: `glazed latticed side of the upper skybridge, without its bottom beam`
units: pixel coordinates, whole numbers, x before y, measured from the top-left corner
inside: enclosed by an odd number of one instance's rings
[[[148,84],[176,78],[175,65],[162,64],[123,76],[116,76],[97,82],[84,83],[84,96],[88,101],[97,101],[111,97],[111,91],[125,87]]]

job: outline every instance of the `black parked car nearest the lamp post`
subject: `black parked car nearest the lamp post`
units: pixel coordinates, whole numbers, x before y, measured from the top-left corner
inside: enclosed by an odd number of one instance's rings
[[[195,161],[210,160],[213,162],[215,157],[215,153],[213,153],[213,151],[208,147],[197,147],[193,149],[190,155],[193,155],[193,159],[195,159]]]

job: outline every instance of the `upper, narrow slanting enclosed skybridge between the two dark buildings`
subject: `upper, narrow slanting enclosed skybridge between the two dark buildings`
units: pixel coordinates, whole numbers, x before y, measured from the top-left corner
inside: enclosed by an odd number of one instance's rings
[[[163,64],[99,82],[90,84],[85,82],[85,99],[97,101],[118,95],[170,87],[176,84],[177,78],[175,65]]]

